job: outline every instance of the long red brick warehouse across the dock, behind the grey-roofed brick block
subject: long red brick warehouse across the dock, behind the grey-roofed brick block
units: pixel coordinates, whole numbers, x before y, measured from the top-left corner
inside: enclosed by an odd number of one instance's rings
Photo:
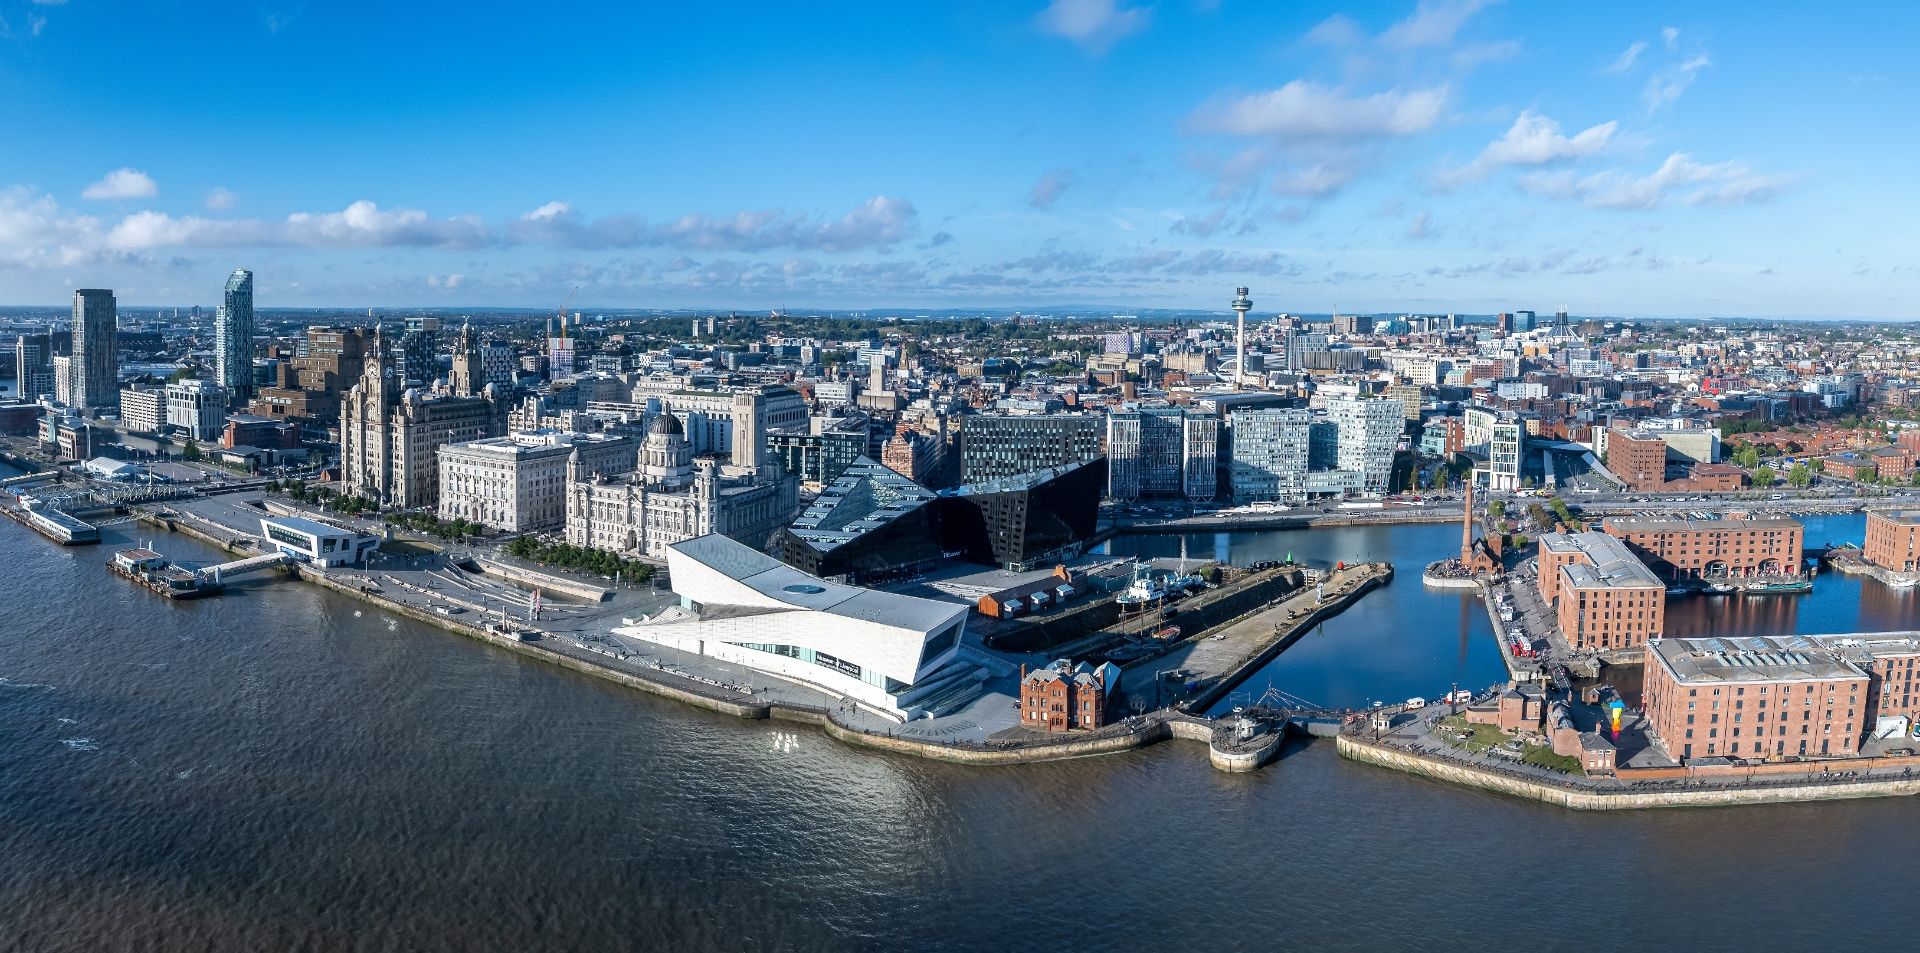
[[[1797,519],[1607,517],[1601,528],[1670,580],[1797,576],[1807,530]]]

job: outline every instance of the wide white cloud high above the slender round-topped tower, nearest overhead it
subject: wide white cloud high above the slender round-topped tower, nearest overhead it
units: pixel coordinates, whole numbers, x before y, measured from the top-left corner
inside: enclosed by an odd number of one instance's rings
[[[1446,115],[1452,98],[1450,86],[1348,96],[1338,86],[1296,79],[1275,90],[1202,108],[1192,123],[1202,131],[1238,136],[1313,140],[1407,136],[1432,129]]]

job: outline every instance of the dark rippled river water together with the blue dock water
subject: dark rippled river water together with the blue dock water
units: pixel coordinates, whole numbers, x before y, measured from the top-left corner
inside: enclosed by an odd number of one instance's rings
[[[1920,851],[1912,801],[1580,815],[1327,744],[1256,774],[1185,742],[937,765],[707,715],[296,582],[169,603],[102,569],[132,532],[60,550],[0,523],[0,949],[1912,943],[1908,916],[1874,913],[1905,909],[1874,861]],[[1256,678],[1325,701],[1496,678],[1484,613],[1419,586],[1448,538],[1219,540],[1402,563]]]

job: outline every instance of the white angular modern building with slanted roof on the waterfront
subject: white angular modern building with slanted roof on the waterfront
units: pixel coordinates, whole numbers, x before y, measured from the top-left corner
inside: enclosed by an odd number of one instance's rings
[[[968,607],[841,586],[726,536],[666,548],[678,607],[614,634],[745,665],[893,719],[977,682],[962,657]]]

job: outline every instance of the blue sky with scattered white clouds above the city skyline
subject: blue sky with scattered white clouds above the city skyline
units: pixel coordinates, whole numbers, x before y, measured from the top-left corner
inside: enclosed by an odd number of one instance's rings
[[[0,304],[1920,317],[1916,21],[0,0]]]

